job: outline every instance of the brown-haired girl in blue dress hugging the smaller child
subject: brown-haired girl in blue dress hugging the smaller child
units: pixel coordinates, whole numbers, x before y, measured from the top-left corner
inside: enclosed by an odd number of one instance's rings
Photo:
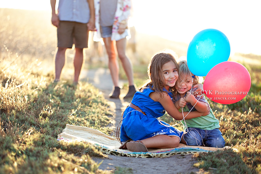
[[[182,113],[172,102],[171,92],[173,92],[179,77],[177,61],[174,56],[177,57],[177,55],[162,52],[151,59],[148,66],[149,79],[135,93],[123,113],[120,128],[122,146],[119,148],[147,152],[147,148],[174,148],[179,145],[180,141],[185,143],[182,131],[165,122],[161,124],[157,119],[163,116],[165,111],[176,120],[183,119]],[[185,112],[185,114],[187,113]],[[186,119],[200,117],[208,113],[209,111],[205,113],[193,111]]]

